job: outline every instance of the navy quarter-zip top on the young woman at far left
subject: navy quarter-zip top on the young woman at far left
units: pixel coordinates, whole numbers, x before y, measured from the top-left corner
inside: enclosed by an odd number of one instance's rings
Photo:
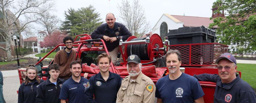
[[[40,80],[42,82],[44,80]],[[28,84],[22,83],[19,87],[18,103],[36,103],[36,92],[40,83],[37,80]]]

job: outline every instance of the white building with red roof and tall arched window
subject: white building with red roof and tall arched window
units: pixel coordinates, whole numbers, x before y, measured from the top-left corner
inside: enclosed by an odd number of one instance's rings
[[[214,10],[216,10],[216,8],[212,9],[212,11]],[[225,17],[224,14],[217,13],[213,13],[211,17],[215,18],[218,16]],[[206,17],[163,14],[153,27],[152,34],[157,33],[164,41],[164,37],[167,37],[169,30],[178,29],[180,27],[209,27],[210,23],[213,23],[213,20],[210,20],[210,18]],[[216,30],[217,28],[217,26],[214,26],[211,29]],[[238,51],[239,49],[237,47],[237,43],[231,43],[231,45],[228,46],[230,52]]]

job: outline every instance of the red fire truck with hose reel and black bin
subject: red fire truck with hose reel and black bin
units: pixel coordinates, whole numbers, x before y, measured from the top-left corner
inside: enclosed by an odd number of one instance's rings
[[[77,40],[80,36],[82,36],[80,40]],[[196,40],[198,38],[200,40]],[[156,83],[159,78],[166,76],[169,72],[163,56],[168,50],[177,49],[181,53],[182,72],[191,76],[203,73],[218,74],[215,61],[221,54],[228,52],[227,45],[213,43],[215,40],[215,32],[204,26],[197,28],[183,27],[169,30],[168,37],[165,37],[165,39],[166,40],[162,42],[158,34],[146,34],[144,38],[131,36],[124,42],[122,41],[122,37],[120,37],[121,41],[119,42],[119,47],[124,62],[114,64],[111,62],[110,71],[119,74],[122,78],[129,75],[126,60],[128,56],[135,54],[141,58],[142,73],[150,77],[153,82]],[[169,45],[169,43],[171,45]],[[39,64],[59,46],[65,46],[65,44],[57,45],[36,64]],[[73,48],[73,50],[78,52],[76,57],[82,60],[81,75],[83,76],[84,73],[89,73],[88,78],[90,78],[99,73],[100,70],[97,66],[96,58],[101,53],[108,54],[108,48],[104,40],[91,39],[90,35],[82,34],[75,38],[73,46],[76,47]],[[122,46],[125,48],[124,51],[122,51]],[[53,63],[53,61],[51,61],[51,63]],[[41,68],[41,66],[38,65],[37,67],[39,67],[39,75],[42,76],[42,79],[46,80],[48,76],[48,66]],[[25,72],[25,70],[18,70],[20,83],[22,83],[25,78],[23,72]],[[241,76],[241,72],[238,71],[238,73]],[[216,83],[206,81],[199,81],[199,83],[205,93],[205,102],[213,103]]]

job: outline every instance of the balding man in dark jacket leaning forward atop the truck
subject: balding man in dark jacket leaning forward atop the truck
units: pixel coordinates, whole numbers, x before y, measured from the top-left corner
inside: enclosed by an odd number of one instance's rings
[[[122,36],[122,40],[125,41],[132,36],[132,34],[123,24],[115,22],[115,15],[113,13],[108,13],[106,15],[106,23],[101,24],[91,34],[92,39],[101,38],[105,41],[112,63],[116,62],[117,53],[120,51],[120,36]],[[119,60],[123,62],[122,55]]]

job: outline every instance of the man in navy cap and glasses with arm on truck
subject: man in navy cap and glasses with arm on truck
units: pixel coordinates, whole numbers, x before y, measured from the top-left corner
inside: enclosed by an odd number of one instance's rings
[[[256,94],[252,87],[236,74],[237,61],[230,53],[222,54],[217,60],[218,74],[194,75],[199,81],[216,82],[214,102],[252,103]],[[253,69],[253,68],[252,68]]]

